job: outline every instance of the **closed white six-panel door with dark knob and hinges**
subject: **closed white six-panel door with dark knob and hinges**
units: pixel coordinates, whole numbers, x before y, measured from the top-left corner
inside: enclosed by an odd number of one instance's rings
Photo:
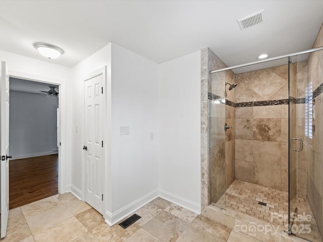
[[[85,202],[103,214],[103,75],[84,82]]]

